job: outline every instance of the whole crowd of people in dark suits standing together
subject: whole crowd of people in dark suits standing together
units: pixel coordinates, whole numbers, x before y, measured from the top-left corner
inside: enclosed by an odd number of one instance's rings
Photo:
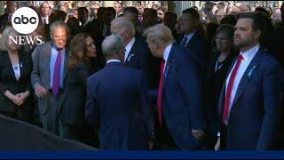
[[[283,21],[49,9],[43,44],[9,43],[19,33],[1,22],[0,114],[100,149],[284,148]]]

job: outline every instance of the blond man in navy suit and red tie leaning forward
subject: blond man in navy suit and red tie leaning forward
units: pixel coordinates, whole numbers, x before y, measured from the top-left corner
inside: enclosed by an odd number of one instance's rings
[[[170,149],[198,149],[206,126],[197,64],[173,44],[170,28],[158,24],[145,36],[154,56],[163,58],[157,99],[162,139]]]

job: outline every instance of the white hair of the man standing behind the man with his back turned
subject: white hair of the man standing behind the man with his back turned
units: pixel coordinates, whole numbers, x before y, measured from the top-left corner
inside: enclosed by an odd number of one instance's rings
[[[133,23],[125,17],[118,17],[112,20],[111,26],[115,26],[120,29],[125,28],[130,31],[131,36],[135,36],[135,27]]]

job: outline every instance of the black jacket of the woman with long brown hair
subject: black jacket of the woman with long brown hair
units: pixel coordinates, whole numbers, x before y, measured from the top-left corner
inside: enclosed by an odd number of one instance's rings
[[[59,100],[57,114],[66,124],[85,125],[86,81],[91,68],[84,62],[78,62],[67,70],[64,81],[64,93]]]

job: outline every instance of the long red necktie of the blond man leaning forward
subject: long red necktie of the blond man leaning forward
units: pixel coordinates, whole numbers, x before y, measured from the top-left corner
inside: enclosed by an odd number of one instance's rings
[[[162,124],[162,82],[163,82],[163,68],[165,66],[165,60],[162,60],[161,63],[161,75],[158,89],[158,100],[157,100],[157,108],[158,108],[158,118],[160,124]]]

